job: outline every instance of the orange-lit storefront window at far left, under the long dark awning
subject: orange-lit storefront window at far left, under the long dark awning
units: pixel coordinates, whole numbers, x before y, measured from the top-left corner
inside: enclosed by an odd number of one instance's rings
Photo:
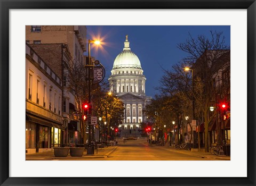
[[[35,148],[35,123],[26,122],[26,148]]]

